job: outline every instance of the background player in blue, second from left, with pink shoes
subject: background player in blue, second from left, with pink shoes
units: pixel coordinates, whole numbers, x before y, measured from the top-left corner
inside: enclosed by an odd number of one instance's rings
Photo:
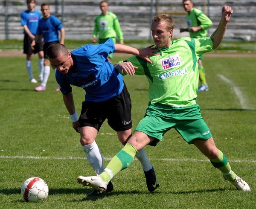
[[[49,45],[59,43],[58,39],[58,31],[61,33],[60,43],[64,44],[65,38],[65,30],[61,21],[53,16],[50,15],[50,7],[49,4],[43,3],[41,5],[41,11],[43,13],[43,17],[39,20],[38,29],[36,32],[36,40],[40,38],[40,35],[43,35],[44,38],[44,74],[43,74],[43,81],[40,86],[35,87],[36,91],[45,91],[46,84],[50,75],[50,61],[46,54],[46,49]],[[35,41],[31,44],[32,48],[35,46]],[[57,88],[56,90],[59,90]]]

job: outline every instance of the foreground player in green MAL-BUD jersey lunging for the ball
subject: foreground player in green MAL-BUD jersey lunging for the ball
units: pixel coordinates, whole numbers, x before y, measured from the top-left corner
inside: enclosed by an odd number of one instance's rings
[[[133,56],[115,64],[116,70],[129,75],[145,75],[149,82],[149,106],[144,118],[124,148],[107,165],[102,174],[77,177],[79,183],[105,191],[108,182],[119,171],[127,168],[138,150],[145,145],[156,145],[164,134],[175,128],[183,139],[194,144],[207,156],[224,178],[237,189],[250,191],[248,184],[231,170],[225,155],[215,146],[212,134],[196,104],[198,85],[198,58],[216,49],[224,38],[233,10],[224,6],[221,21],[211,37],[171,40],[174,20],[169,15],[153,17],[151,33],[160,55],[149,57],[152,64]],[[136,69],[136,70],[135,70]],[[172,181],[172,179],[171,179]],[[172,182],[169,182],[170,185]],[[153,186],[157,186],[157,181]]]

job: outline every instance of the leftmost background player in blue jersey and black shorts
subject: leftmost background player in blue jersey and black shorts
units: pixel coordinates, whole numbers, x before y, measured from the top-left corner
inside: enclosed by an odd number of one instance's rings
[[[41,18],[41,14],[35,10],[35,0],[27,0],[26,3],[28,9],[20,14],[20,23],[24,30],[23,53],[26,54],[26,69],[29,73],[29,81],[31,83],[37,83],[33,76],[32,55],[33,53],[38,53],[38,80],[41,81],[43,78],[44,68],[43,42],[42,39],[39,39],[35,45],[35,50],[31,49],[31,43],[35,39],[36,30],[38,28],[38,21]]]

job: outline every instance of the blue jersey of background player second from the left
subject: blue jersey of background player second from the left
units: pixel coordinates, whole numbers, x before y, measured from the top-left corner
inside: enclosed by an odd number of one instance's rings
[[[47,19],[43,17],[39,20],[36,34],[43,35],[44,43],[58,41],[58,31],[63,28],[61,20],[50,15]]]

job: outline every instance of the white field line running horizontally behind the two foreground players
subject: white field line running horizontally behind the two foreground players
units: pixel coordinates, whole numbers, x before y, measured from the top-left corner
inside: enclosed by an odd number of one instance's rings
[[[37,157],[37,156],[0,156],[0,159],[32,159],[32,160],[86,160],[85,157]],[[104,157],[104,160],[111,160],[111,157]],[[137,160],[136,158],[134,160]],[[150,158],[149,160],[155,161],[198,161],[198,162],[209,162],[209,160],[198,160],[193,158],[176,159],[176,158]],[[256,160],[229,160],[230,162],[236,163],[256,163]]]

